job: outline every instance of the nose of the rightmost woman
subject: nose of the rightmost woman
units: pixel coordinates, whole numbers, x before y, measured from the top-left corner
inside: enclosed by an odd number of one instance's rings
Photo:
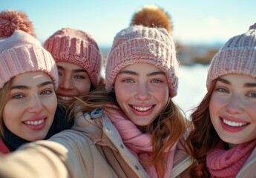
[[[226,111],[232,114],[243,113],[243,102],[239,96],[233,94],[226,105]]]

